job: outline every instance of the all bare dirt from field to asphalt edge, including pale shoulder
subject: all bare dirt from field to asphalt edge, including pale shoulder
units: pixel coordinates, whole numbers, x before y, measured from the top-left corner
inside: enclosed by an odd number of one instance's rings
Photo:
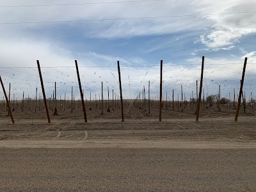
[[[234,111],[215,111],[217,115],[214,117],[209,115],[213,114],[212,111],[202,111],[199,122],[196,122],[192,109],[164,110],[162,122],[158,119],[158,109],[151,109],[148,114],[133,106],[124,108],[125,122],[121,121],[119,108],[103,115],[100,115],[101,109],[92,109],[88,111],[87,123],[81,109],[73,113],[60,111],[60,115],[51,116],[51,124],[48,124],[44,111],[33,116],[28,115],[28,111],[16,111],[15,124],[10,121],[10,116],[1,113],[0,147],[97,147],[106,141],[106,147],[127,148],[215,148],[224,145],[227,148],[255,148],[256,117],[253,111],[251,115],[239,116],[237,122],[234,121]],[[63,144],[65,141],[66,145]],[[82,143],[77,145],[77,141]]]

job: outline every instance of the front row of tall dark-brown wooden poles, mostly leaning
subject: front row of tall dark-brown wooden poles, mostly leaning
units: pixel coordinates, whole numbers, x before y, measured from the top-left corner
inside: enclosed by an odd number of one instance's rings
[[[40,76],[42,92],[43,92],[43,96],[44,96],[44,105],[45,105],[45,110],[46,110],[46,113],[47,113],[47,119],[48,119],[49,124],[51,124],[51,118],[50,118],[49,109],[48,109],[48,106],[47,106],[47,99],[46,99],[46,96],[45,96],[44,81],[43,81],[43,78],[42,78],[40,63],[39,63],[39,60],[36,60],[36,62],[37,62],[39,76]],[[86,116],[86,110],[85,110],[85,104],[84,104],[84,97],[83,97],[83,90],[82,90],[82,85],[81,85],[81,81],[80,81],[77,60],[75,60],[75,63],[76,63],[77,79],[78,79],[78,83],[79,83],[79,90],[80,90],[80,94],[81,94],[81,102],[82,102],[82,106],[83,106],[84,121],[87,122],[87,116]],[[240,90],[239,90],[239,97],[238,97],[238,101],[237,101],[235,121],[237,121],[238,114],[239,114],[239,108],[240,108],[240,104],[241,104],[241,95],[243,93],[243,83],[244,83],[244,74],[245,74],[245,69],[246,69],[246,63],[247,63],[247,58],[245,58],[245,60],[244,60],[243,74],[242,74],[241,85],[240,85]],[[123,106],[122,83],[121,83],[121,73],[120,73],[119,61],[117,61],[117,67],[118,67],[118,77],[119,77],[119,86],[120,86],[120,105],[121,105],[121,109],[122,109],[122,122],[124,122],[124,106]],[[197,106],[196,106],[196,122],[198,122],[199,113],[200,113],[200,104],[201,104],[201,98],[202,98],[202,86],[203,86],[203,79],[204,79],[203,77],[204,77],[204,56],[202,57],[200,88],[199,88],[199,95],[198,95]],[[14,122],[13,115],[12,115],[12,109],[11,109],[10,102],[8,100],[6,91],[4,89],[4,84],[3,84],[3,81],[1,79],[1,76],[0,76],[0,81],[1,81],[1,85],[3,87],[4,97],[6,98],[8,111],[10,112],[10,116],[11,116],[12,122],[14,124],[15,122]],[[161,106],[162,106],[162,97],[163,97],[162,83],[163,83],[163,60],[161,60],[161,63],[160,63],[159,122],[161,122],[161,120],[162,120],[162,108],[161,108]],[[150,106],[149,86],[150,86],[150,83],[148,83],[148,111],[150,111],[150,107],[149,107]],[[103,83],[102,83],[102,88],[103,88]],[[145,90],[144,90],[144,92],[145,92]],[[103,92],[102,92],[102,98],[103,98]],[[102,106],[103,106],[103,99],[102,99]],[[103,110],[103,108],[102,108],[102,110]]]

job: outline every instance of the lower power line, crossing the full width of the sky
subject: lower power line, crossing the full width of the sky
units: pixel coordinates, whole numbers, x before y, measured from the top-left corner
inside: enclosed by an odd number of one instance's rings
[[[46,21],[29,21],[29,22],[1,22],[0,25],[6,24],[52,24],[64,22],[93,22],[93,21],[108,21],[108,20],[136,20],[136,19],[167,19],[172,17],[196,17],[196,16],[213,16],[213,15],[229,15],[229,14],[242,14],[242,13],[256,13],[255,12],[230,12],[230,13],[208,13],[208,14],[194,14],[194,15],[169,15],[157,17],[129,17],[129,18],[109,18],[109,19],[85,19],[85,20],[46,20]]]

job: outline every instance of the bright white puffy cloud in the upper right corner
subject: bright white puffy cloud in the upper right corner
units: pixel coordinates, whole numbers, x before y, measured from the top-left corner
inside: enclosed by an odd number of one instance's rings
[[[214,24],[210,32],[200,35],[196,42],[201,42],[210,51],[229,50],[230,47],[234,47],[243,36],[256,33],[255,13],[239,13],[253,11],[252,8],[255,6],[255,1],[246,1],[243,4],[235,1],[220,11],[230,14],[206,16]]]

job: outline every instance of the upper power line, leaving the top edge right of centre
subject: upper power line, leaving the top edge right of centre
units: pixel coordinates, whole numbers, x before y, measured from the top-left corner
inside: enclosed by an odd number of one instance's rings
[[[141,3],[152,1],[166,1],[166,0],[140,0],[140,1],[110,1],[110,2],[96,2],[96,3],[66,3],[66,4],[25,4],[25,5],[10,5],[0,6],[0,8],[24,8],[24,7],[36,7],[36,6],[68,6],[68,5],[83,5],[83,4],[113,4],[113,3]]]

